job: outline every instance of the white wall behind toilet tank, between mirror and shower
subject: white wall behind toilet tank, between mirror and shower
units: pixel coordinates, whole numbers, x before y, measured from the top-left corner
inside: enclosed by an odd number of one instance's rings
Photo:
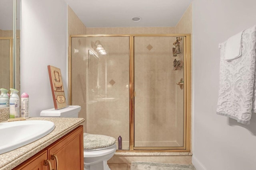
[[[47,65],[60,68],[67,94],[67,4],[22,0],[21,94],[30,97],[30,116],[54,107]]]

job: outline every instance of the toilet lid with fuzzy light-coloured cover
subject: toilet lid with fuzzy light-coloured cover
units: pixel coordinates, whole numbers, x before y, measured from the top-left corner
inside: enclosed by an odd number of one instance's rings
[[[84,150],[105,149],[115,142],[116,139],[113,137],[84,133]]]

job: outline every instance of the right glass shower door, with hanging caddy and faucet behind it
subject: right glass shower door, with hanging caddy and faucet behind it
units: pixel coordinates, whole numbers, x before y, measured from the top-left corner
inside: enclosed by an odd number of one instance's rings
[[[184,146],[183,37],[134,37],[134,149]]]

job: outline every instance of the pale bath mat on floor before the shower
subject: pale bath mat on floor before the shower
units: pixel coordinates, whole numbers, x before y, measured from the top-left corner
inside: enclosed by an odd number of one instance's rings
[[[196,170],[196,168],[192,164],[132,162],[130,170]]]

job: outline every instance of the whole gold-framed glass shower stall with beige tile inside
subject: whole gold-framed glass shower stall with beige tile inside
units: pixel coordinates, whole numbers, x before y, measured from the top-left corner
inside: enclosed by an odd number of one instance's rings
[[[190,35],[72,35],[69,100],[118,151],[190,150]]]

